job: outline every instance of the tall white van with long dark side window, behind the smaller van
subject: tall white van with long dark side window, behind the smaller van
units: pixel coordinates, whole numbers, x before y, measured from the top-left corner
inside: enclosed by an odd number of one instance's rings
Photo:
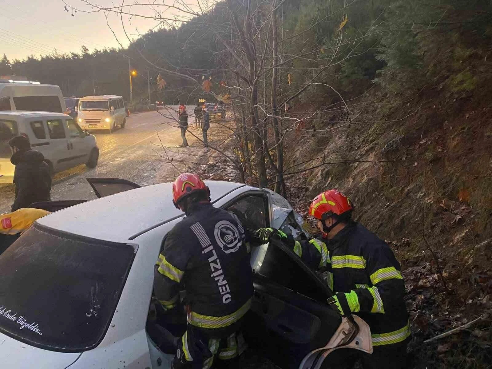
[[[55,85],[39,82],[0,79],[0,111],[27,110],[63,113],[65,101],[62,90]]]

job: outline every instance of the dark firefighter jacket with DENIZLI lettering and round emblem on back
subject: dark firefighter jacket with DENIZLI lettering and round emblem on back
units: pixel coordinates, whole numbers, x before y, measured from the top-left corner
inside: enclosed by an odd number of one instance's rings
[[[190,205],[165,238],[154,270],[154,293],[165,309],[177,305],[183,283],[191,325],[215,338],[239,329],[251,305],[253,281],[237,215],[210,203]]]

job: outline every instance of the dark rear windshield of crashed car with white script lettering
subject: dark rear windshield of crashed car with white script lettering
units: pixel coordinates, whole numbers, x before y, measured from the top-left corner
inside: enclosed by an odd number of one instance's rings
[[[133,246],[32,226],[0,255],[0,332],[53,351],[97,346],[116,309]]]

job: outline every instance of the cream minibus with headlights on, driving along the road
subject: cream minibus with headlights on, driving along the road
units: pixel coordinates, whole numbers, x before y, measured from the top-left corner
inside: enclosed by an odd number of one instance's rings
[[[122,96],[86,96],[79,100],[78,123],[82,129],[107,129],[111,133],[117,125],[124,128],[126,109]]]

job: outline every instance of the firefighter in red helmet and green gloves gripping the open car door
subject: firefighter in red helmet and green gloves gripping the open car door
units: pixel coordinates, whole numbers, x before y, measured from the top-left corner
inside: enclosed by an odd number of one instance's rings
[[[355,313],[369,324],[373,353],[363,354],[364,369],[405,368],[410,327],[400,264],[384,241],[352,220],[353,209],[347,197],[332,189],[309,206],[322,232],[319,239],[299,242],[272,228],[259,229],[257,235],[289,244],[323,273],[335,292],[328,303],[340,314]]]

